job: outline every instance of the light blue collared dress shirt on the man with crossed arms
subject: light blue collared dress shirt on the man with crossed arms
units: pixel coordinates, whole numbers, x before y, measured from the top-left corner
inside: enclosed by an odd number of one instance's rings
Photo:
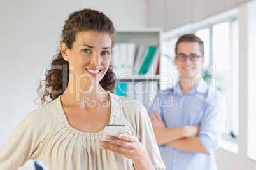
[[[225,99],[201,78],[186,95],[180,82],[173,88],[159,91],[149,112],[157,110],[167,128],[199,125],[199,141],[210,154],[183,152],[169,145],[159,145],[167,170],[215,170],[214,151],[225,128]]]

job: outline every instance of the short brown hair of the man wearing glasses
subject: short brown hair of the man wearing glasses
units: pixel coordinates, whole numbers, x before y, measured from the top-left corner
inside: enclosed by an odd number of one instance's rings
[[[180,42],[198,42],[198,44],[200,46],[200,52],[204,56],[204,42],[199,37],[195,36],[194,34],[185,34],[178,39],[178,41],[176,42],[176,46],[175,46],[176,54],[178,51],[178,44],[180,44]]]

